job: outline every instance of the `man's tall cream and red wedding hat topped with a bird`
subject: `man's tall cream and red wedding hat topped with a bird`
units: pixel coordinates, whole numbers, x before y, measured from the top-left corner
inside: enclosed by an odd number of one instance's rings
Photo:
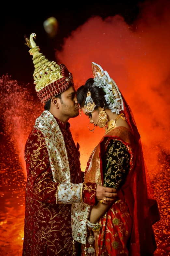
[[[72,74],[64,64],[58,65],[56,62],[50,62],[40,53],[39,46],[36,46],[34,39],[36,34],[32,33],[30,39],[25,36],[25,45],[29,46],[30,55],[33,55],[34,63],[34,84],[35,90],[41,103],[45,105],[52,97],[62,93],[70,86],[74,86]]]

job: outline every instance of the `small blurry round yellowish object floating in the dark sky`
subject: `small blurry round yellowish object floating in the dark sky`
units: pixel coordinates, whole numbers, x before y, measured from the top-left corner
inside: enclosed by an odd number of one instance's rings
[[[58,21],[55,17],[50,17],[43,22],[43,27],[50,36],[55,36],[58,30]]]

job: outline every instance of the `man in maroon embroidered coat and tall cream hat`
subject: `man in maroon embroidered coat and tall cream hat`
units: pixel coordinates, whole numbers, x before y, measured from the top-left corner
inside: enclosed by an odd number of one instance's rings
[[[27,184],[22,255],[72,255],[71,204],[110,203],[115,189],[82,183],[79,145],[69,130],[78,102],[72,74],[64,64],[39,53],[32,33],[26,38],[35,64],[34,80],[45,111],[35,121],[25,145]],[[75,244],[77,246],[77,244]],[[76,249],[76,248],[75,248]]]

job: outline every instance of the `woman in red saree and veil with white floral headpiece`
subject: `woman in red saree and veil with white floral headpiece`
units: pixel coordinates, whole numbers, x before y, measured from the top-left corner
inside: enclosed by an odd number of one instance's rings
[[[83,244],[83,256],[152,255],[152,225],[160,216],[140,135],[114,80],[98,64],[92,63],[92,70],[94,79],[78,88],[77,100],[94,126],[91,131],[99,126],[106,132],[88,160],[84,182],[115,188],[118,199],[111,205],[106,197],[93,207],[73,205],[73,238]]]

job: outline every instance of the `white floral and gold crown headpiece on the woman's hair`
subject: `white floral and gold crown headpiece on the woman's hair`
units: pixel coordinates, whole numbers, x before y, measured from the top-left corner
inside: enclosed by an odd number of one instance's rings
[[[112,113],[119,114],[121,110],[124,110],[123,99],[121,93],[115,81],[110,78],[107,71],[92,62],[92,71],[94,76],[93,86],[102,87],[104,92],[106,92],[105,100],[109,104],[109,109]]]

